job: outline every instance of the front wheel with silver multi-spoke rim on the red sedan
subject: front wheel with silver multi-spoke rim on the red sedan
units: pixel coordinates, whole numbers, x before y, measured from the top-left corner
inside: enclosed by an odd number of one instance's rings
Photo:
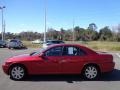
[[[23,80],[26,77],[26,69],[22,65],[14,65],[9,71],[10,78],[13,80]]]

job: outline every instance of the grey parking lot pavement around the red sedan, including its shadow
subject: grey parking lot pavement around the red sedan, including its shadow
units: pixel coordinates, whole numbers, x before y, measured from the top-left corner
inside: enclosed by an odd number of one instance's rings
[[[36,49],[8,50],[0,48],[0,66],[6,58],[30,53]],[[112,53],[112,52],[109,52]],[[24,81],[13,81],[0,67],[0,90],[120,90],[120,53],[112,53],[115,70],[98,81],[84,81],[79,75],[30,76]]]

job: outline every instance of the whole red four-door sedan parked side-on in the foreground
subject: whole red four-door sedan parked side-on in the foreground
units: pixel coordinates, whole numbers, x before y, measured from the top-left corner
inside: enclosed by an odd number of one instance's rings
[[[36,74],[81,74],[93,80],[110,72],[115,63],[110,54],[100,54],[76,44],[52,45],[31,54],[14,56],[2,65],[3,71],[14,80]]]

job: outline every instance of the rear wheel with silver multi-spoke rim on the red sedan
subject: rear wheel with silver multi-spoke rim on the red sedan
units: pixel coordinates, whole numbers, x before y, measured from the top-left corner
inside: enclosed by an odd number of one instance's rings
[[[82,76],[85,80],[97,80],[100,76],[100,69],[96,65],[87,65],[83,68]]]

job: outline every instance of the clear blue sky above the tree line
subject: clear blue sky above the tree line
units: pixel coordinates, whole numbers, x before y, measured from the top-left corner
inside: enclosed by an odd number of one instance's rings
[[[44,32],[44,11],[47,8],[47,28],[87,28],[95,23],[99,28],[120,24],[120,0],[0,0],[5,6],[6,32]],[[0,11],[1,32],[1,11]]]

